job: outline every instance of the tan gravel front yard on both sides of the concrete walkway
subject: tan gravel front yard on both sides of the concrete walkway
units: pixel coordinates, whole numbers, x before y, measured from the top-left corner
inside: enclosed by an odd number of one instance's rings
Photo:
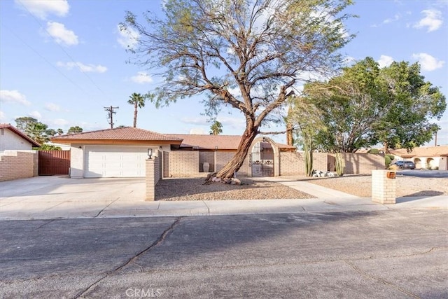
[[[286,176],[286,179],[307,181],[359,197],[372,196],[370,175],[309,178]],[[157,200],[270,200],[314,198],[280,183],[242,178],[242,186],[223,183],[204,185],[204,178],[163,179],[155,187]],[[397,176],[397,197],[448,195],[448,179]]]

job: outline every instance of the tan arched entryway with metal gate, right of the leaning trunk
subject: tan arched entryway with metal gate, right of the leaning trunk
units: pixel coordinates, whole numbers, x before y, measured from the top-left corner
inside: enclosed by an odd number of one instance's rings
[[[251,176],[275,176],[278,170],[278,148],[272,139],[260,137],[252,143],[249,165]]]

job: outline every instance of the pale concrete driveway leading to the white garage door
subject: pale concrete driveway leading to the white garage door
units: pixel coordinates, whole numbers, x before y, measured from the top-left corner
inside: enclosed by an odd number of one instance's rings
[[[112,205],[116,209],[138,209],[139,204],[151,209],[151,202],[145,202],[144,178],[36,176],[0,182],[0,219],[67,218],[70,215],[92,218]]]

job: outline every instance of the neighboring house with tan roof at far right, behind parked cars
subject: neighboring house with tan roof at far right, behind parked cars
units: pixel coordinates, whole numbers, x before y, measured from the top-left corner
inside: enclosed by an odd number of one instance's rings
[[[391,150],[395,160],[408,160],[415,163],[416,169],[448,170],[448,146],[421,146],[410,153],[405,149]]]

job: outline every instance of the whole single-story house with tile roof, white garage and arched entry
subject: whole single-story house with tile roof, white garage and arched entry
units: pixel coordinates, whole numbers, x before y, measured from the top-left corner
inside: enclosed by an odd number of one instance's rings
[[[203,168],[205,162],[209,164],[209,171],[216,171],[232,158],[240,139],[241,136],[160,134],[121,127],[60,135],[51,140],[70,146],[71,177],[92,178],[143,177],[149,153],[162,156],[160,167],[163,177],[206,172]],[[295,147],[260,137],[249,160],[259,165],[264,161],[265,174],[274,175],[274,152],[278,156],[280,151],[295,151]],[[279,167],[276,168],[278,172]]]

